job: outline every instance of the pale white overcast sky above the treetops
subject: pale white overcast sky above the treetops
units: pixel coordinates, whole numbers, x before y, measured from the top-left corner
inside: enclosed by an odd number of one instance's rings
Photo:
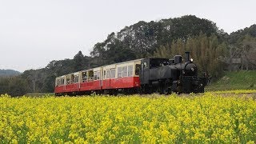
[[[227,33],[256,23],[255,0],[0,0],[0,69],[29,70],[90,55],[111,32],[138,21],[193,14]]]

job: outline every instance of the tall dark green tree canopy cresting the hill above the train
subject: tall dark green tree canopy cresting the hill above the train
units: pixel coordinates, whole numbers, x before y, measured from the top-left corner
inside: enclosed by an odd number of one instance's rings
[[[184,47],[182,46],[183,42],[186,42],[190,37],[198,36],[200,32],[208,37],[215,34],[218,40],[223,39],[222,37],[226,35],[223,30],[218,30],[214,22],[197,18],[194,15],[162,19],[158,22],[140,21],[134,25],[126,26],[117,34],[111,33],[104,42],[98,42],[94,45],[90,54],[102,65],[109,64],[107,62],[110,59],[109,54],[114,50],[125,50],[129,52],[128,54],[135,54],[136,58],[146,58],[148,54],[152,55],[160,46],[178,41],[177,44],[181,48],[178,51],[182,52],[184,49],[182,48]],[[126,54],[122,54],[123,56]],[[121,55],[116,57],[120,58]]]

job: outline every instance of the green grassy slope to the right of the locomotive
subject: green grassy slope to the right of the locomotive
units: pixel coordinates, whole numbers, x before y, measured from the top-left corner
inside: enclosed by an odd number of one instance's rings
[[[206,91],[211,90],[256,90],[256,70],[227,72],[217,82],[206,86]]]

